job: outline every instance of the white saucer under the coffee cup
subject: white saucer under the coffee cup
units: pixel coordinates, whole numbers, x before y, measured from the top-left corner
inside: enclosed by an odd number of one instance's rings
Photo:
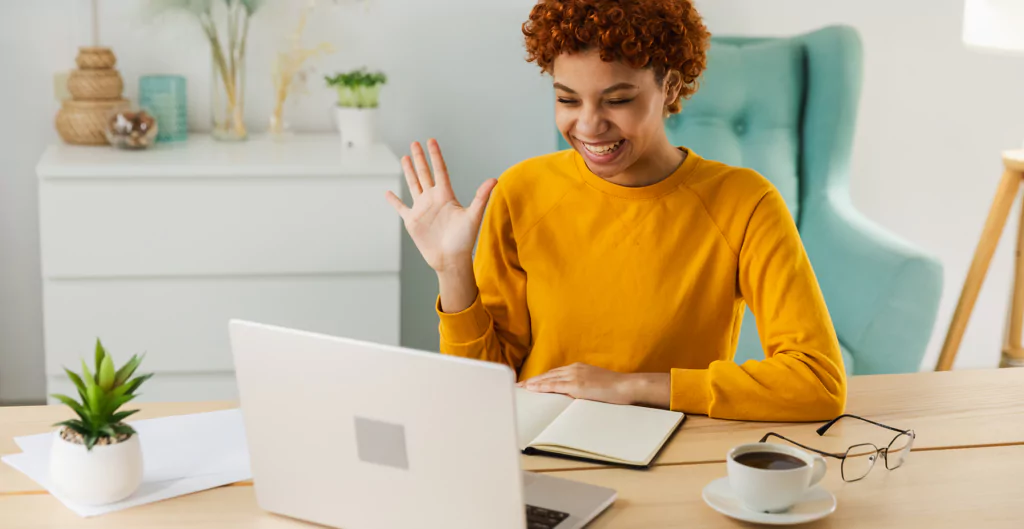
[[[729,478],[719,478],[705,487],[705,502],[729,518],[766,525],[806,524],[820,520],[836,512],[836,496],[819,487],[811,487],[807,494],[785,513],[759,513],[739,503],[729,486]]]

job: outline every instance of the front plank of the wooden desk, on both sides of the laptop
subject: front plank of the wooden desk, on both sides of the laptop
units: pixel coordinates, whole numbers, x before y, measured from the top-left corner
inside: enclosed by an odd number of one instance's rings
[[[881,465],[864,480],[844,483],[838,465],[822,482],[836,494],[836,513],[801,527],[929,529],[1006,528],[1024,524],[1019,477],[1024,446],[915,452],[906,465]],[[613,487],[618,499],[588,529],[755,527],[726,518],[703,503],[700,491],[725,475],[724,464],[659,467],[647,472],[581,470],[561,473]],[[25,529],[308,529],[314,526],[259,510],[250,486],[231,486],[82,519],[45,493],[0,495],[3,527]]]

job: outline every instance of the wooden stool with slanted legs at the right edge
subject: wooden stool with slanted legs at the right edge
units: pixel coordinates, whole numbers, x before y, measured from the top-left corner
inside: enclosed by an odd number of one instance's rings
[[[978,241],[978,248],[974,251],[971,270],[964,281],[964,290],[961,291],[956,311],[953,312],[953,319],[946,333],[946,341],[942,345],[942,353],[935,365],[935,370],[938,371],[948,370],[953,365],[956,350],[964,338],[964,330],[971,318],[971,311],[974,310],[974,304],[978,301],[978,293],[981,291],[981,284],[985,281],[988,265],[992,261],[992,254],[995,253],[995,247],[999,244],[999,235],[1002,234],[1002,228],[1007,224],[1010,209],[1013,207],[1014,201],[1017,200],[1021,183],[1024,182],[1024,150],[1004,151],[1002,164],[1006,166],[1006,172],[1002,173],[1002,179],[999,180],[999,187],[995,191],[992,208],[988,211],[988,219],[985,220],[981,240]],[[999,361],[999,367],[1024,367],[1024,347],[1021,346],[1021,328],[1024,324],[1024,258],[1021,256],[1022,252],[1024,252],[1024,208],[1021,208],[1021,220],[1017,229],[1014,298],[1010,306],[1009,332],[1002,346],[1002,359]]]

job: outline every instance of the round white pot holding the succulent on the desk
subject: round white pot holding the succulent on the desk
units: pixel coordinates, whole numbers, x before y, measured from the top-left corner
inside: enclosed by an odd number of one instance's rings
[[[53,435],[50,481],[70,501],[85,505],[113,503],[130,496],[142,483],[142,448],[133,435],[118,444],[70,443]]]

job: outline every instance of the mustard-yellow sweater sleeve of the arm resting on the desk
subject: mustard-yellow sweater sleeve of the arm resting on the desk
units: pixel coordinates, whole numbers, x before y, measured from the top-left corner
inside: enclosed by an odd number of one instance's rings
[[[797,226],[778,191],[754,209],[738,253],[738,286],[757,319],[764,360],[673,369],[671,407],[743,421],[822,421],[843,413],[839,340]]]

